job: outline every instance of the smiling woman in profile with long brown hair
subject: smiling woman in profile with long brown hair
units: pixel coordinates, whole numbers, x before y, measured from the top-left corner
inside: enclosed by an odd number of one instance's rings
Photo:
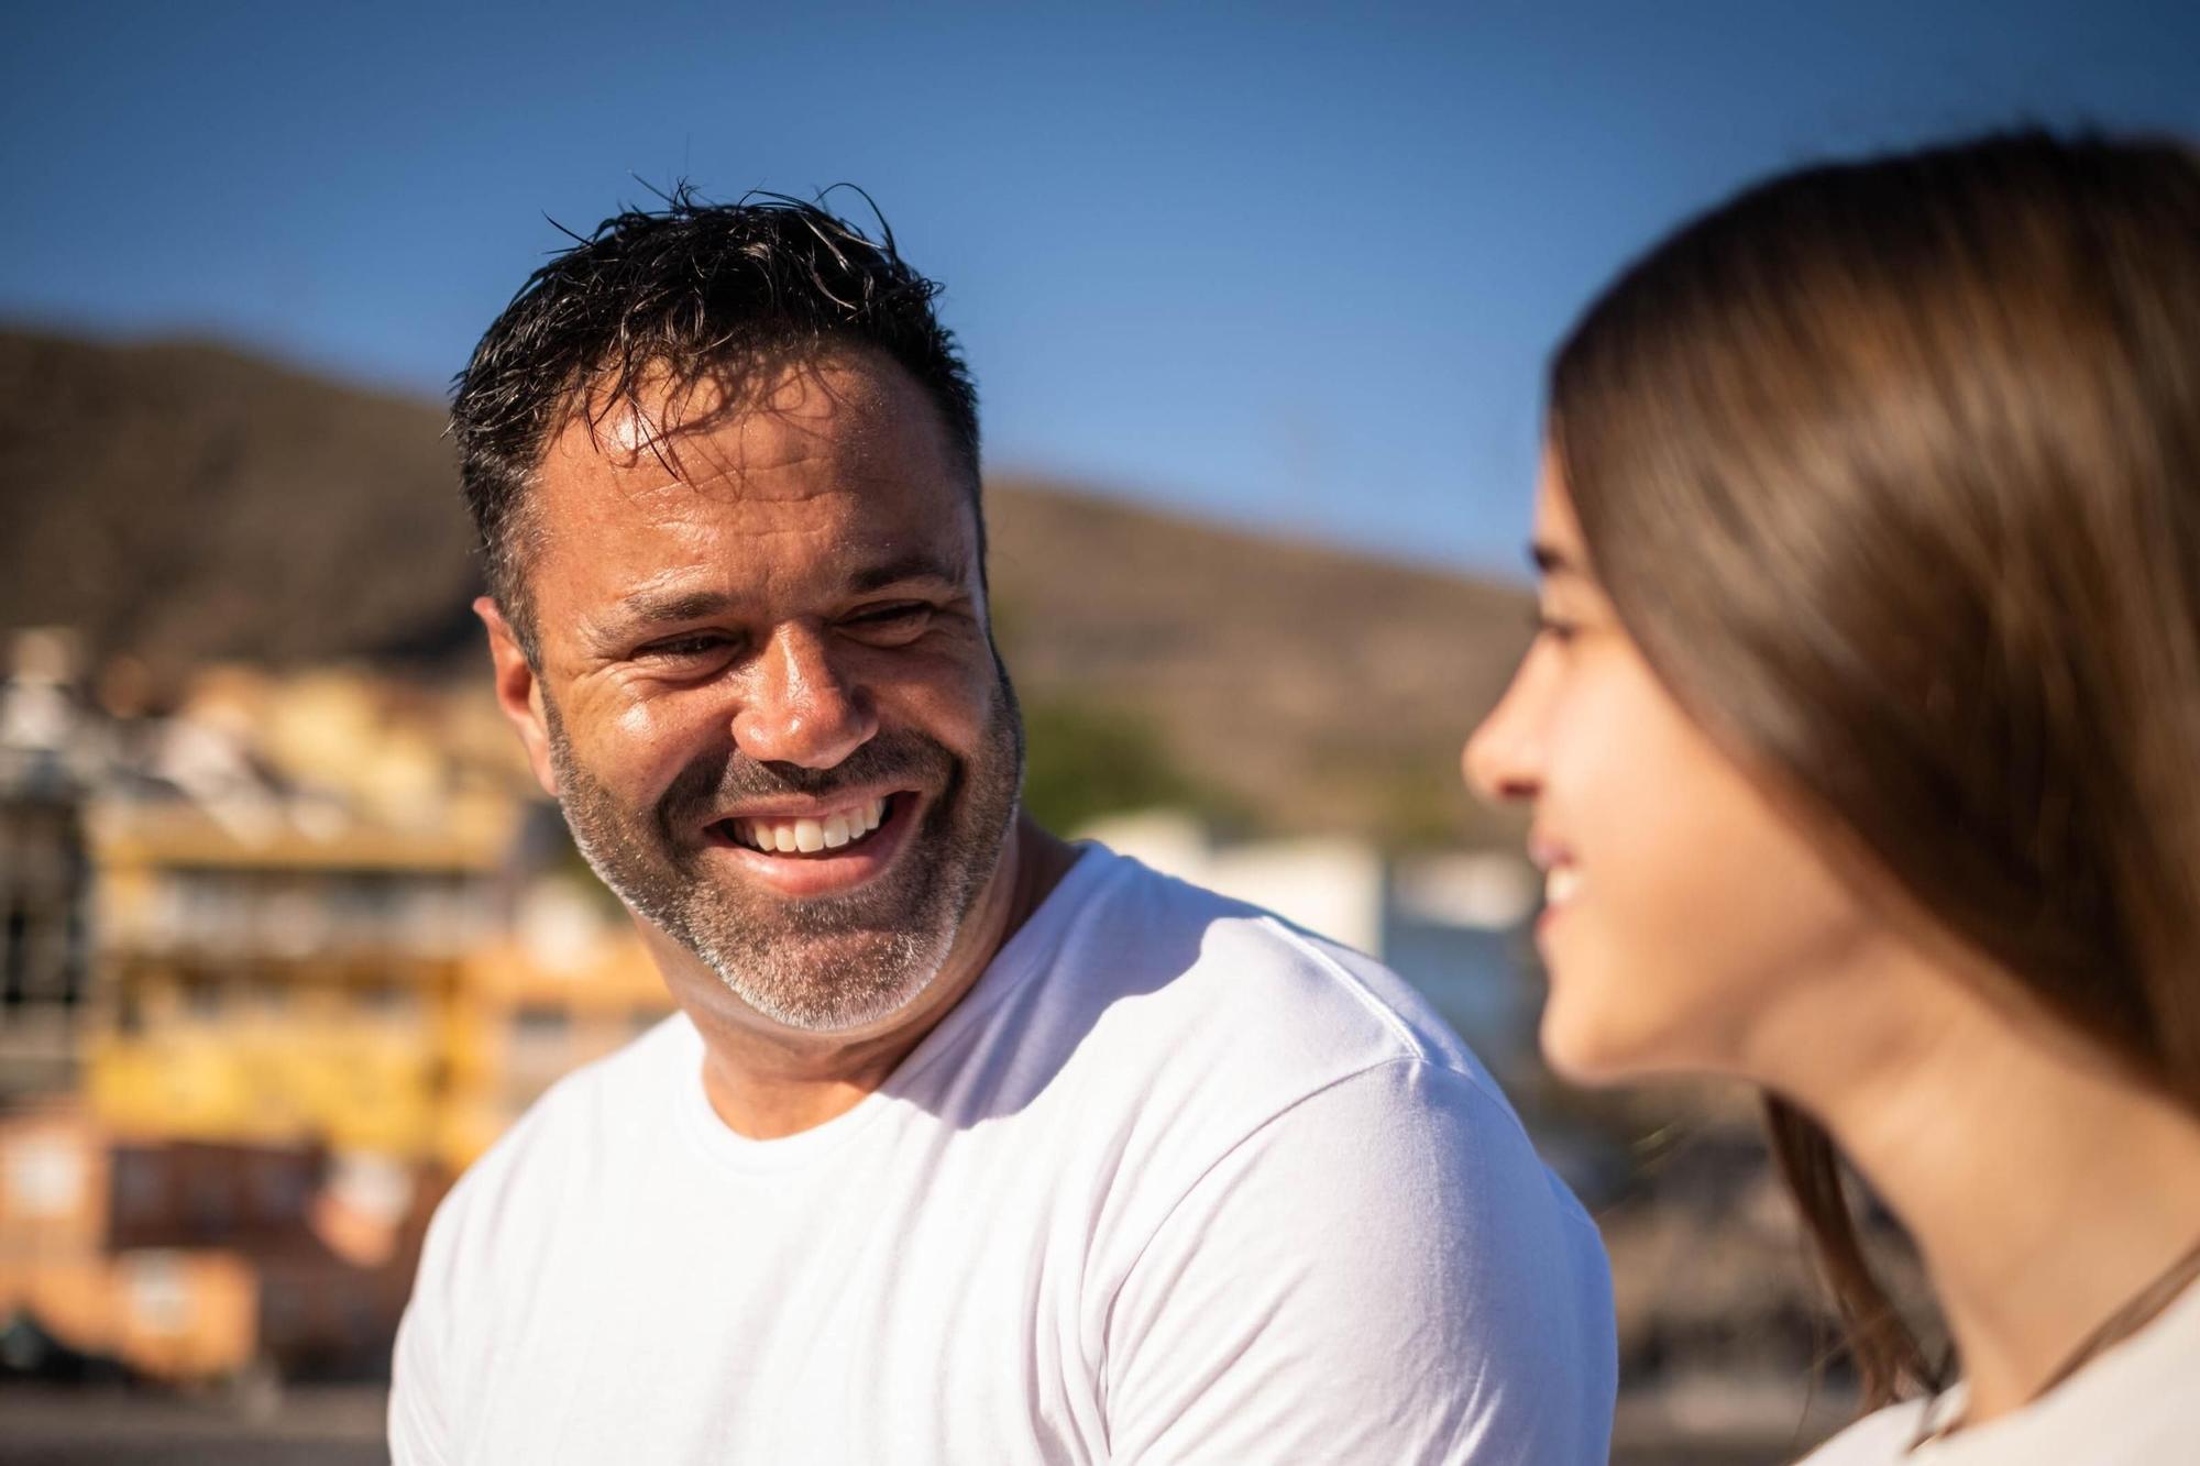
[[[1870,1404],[1813,1462],[2200,1462],[2200,161],[1998,136],[1751,189],[1558,352],[1533,803],[1569,1076],[1720,1072]]]

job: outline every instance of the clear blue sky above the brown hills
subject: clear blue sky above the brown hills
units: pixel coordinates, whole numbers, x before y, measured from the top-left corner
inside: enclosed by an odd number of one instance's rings
[[[2200,4],[18,7],[0,317],[440,396],[642,180],[869,189],[997,471],[1514,570],[1538,374],[1753,174],[2200,136]]]

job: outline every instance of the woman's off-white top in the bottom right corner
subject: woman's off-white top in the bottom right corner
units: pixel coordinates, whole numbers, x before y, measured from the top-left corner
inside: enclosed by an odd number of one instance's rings
[[[2200,1286],[2024,1409],[1916,1451],[1927,1413],[1962,1411],[1962,1389],[1866,1415],[1806,1466],[2193,1466],[2200,1462]]]

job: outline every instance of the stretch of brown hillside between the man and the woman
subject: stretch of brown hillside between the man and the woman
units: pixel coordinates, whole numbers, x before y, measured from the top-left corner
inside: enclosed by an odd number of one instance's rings
[[[1520,660],[1525,592],[1060,489],[988,493],[1027,698],[1135,709],[1276,828],[1489,828],[1459,744]]]

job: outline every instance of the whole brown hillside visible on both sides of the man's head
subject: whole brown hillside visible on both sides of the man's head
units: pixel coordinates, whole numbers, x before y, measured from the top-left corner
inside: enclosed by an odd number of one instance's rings
[[[475,588],[436,405],[209,346],[0,332],[0,627],[95,652],[466,676]],[[1527,638],[1514,588],[1032,482],[988,486],[1027,702],[1148,724],[1258,823],[1474,821],[1459,742]]]

